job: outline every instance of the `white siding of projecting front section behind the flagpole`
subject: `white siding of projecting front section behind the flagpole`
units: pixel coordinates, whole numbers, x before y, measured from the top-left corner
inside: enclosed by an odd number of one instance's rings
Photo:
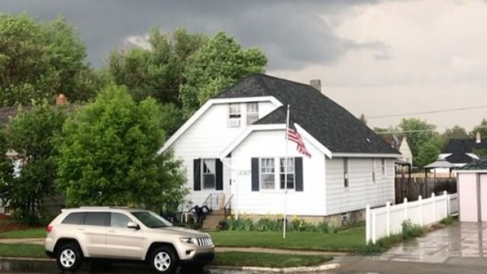
[[[285,142],[284,130],[257,131],[251,133],[231,153],[231,165],[243,171],[239,176],[234,172],[232,192],[235,196],[232,209],[248,214],[283,214],[284,190],[252,191],[251,158],[284,158]],[[312,154],[312,158],[297,153],[296,144],[288,142],[289,157],[302,157],[303,165],[303,191],[288,190],[288,214],[324,216],[326,213],[324,155],[310,143],[306,142],[306,147]],[[276,187],[279,187],[279,181],[275,183]]]

